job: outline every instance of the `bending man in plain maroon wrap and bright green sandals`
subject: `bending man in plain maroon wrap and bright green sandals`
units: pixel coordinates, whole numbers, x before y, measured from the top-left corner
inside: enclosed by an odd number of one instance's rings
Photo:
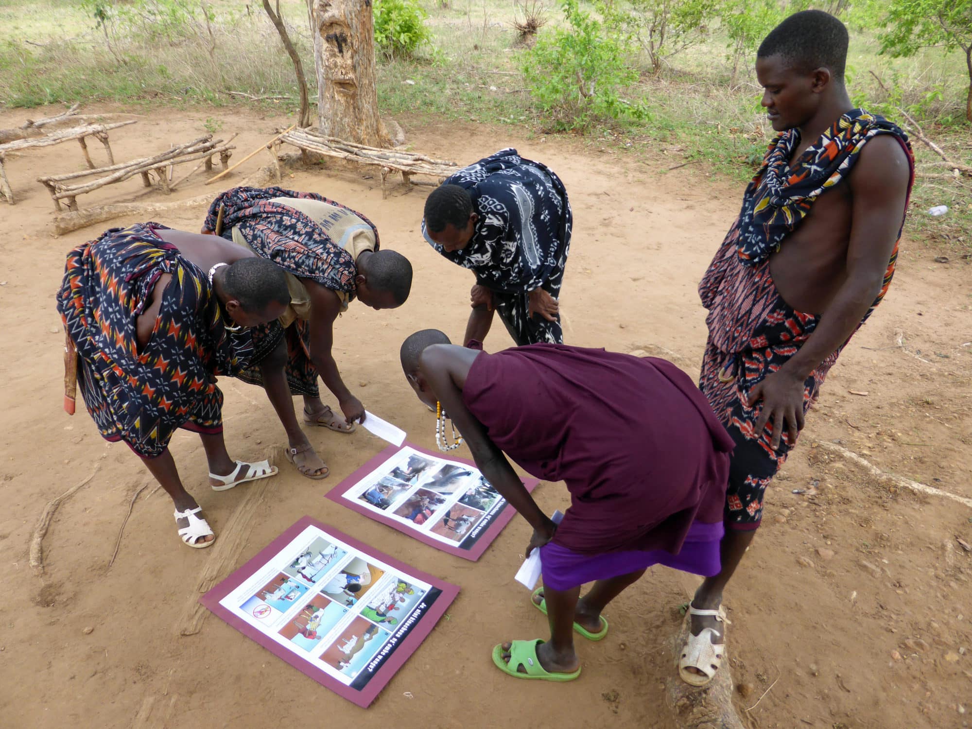
[[[608,632],[602,610],[651,565],[719,572],[733,441],[674,364],[602,349],[532,344],[497,354],[457,347],[438,330],[401,345],[401,366],[436,401],[476,466],[534,528],[550,640],[503,642],[493,661],[518,678],[580,675],[573,631]],[[571,507],[554,524],[503,453],[538,478],[565,481]],[[580,586],[594,582],[579,598]]]

